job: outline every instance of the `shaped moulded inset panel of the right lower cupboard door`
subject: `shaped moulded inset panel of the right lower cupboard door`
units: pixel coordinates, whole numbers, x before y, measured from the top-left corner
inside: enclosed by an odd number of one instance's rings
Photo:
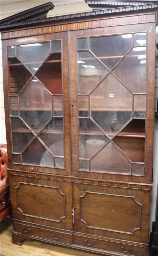
[[[91,191],[80,196],[80,219],[89,228],[132,234],[140,229],[141,210],[142,204],[131,196]],[[93,218],[92,213],[95,213]],[[122,217],[124,221],[120,226]]]

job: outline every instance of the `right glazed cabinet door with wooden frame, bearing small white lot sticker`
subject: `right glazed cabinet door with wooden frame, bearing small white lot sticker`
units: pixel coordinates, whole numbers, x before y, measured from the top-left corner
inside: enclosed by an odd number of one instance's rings
[[[74,176],[151,182],[152,26],[70,33]]]

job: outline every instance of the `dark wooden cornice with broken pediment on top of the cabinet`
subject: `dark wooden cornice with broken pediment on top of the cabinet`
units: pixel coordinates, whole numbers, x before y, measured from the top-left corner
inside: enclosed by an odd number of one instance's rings
[[[88,0],[86,0],[88,2]],[[26,10],[24,12],[20,12],[19,14],[15,14],[10,16],[9,18],[5,18],[0,21],[0,31],[5,32],[5,31],[11,31],[15,29],[22,29],[24,26],[31,26],[31,25],[37,25],[42,23],[46,23],[46,25],[50,22],[64,22],[65,20],[73,20],[76,18],[86,18],[86,17],[94,17],[94,16],[100,16],[100,15],[113,15],[113,14],[123,14],[123,13],[130,13],[130,12],[151,12],[153,10],[158,9],[158,1],[150,3],[146,2],[144,0],[143,2],[139,0],[139,2],[142,2],[143,4],[140,5],[126,5],[126,7],[121,7],[120,5],[116,5],[116,1],[91,1],[94,3],[104,3],[108,2],[109,4],[111,3],[110,7],[114,7],[112,9],[105,9],[103,10],[97,10],[97,11],[92,11],[92,12],[85,12],[85,13],[77,13],[77,14],[68,14],[68,15],[63,15],[63,16],[55,16],[55,17],[50,17],[50,18],[45,18],[44,16],[47,15],[47,12],[49,10],[52,10],[54,8],[54,5],[49,2],[45,3],[44,5],[39,5],[37,7],[31,8],[29,10]],[[113,4],[113,2],[115,2]],[[130,2],[130,1],[128,1]],[[131,3],[134,3],[135,1],[132,1]],[[120,1],[117,1],[117,3],[120,3]],[[124,3],[127,3],[124,2]],[[144,4],[145,3],[145,4]],[[117,8],[116,8],[117,6]],[[52,24],[53,25],[53,24]]]

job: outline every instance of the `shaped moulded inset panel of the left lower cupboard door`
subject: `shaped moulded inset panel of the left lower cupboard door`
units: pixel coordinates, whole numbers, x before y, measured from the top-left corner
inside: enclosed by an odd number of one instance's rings
[[[59,187],[20,182],[16,187],[16,203],[17,209],[26,216],[56,222],[66,217],[65,194],[60,191]]]

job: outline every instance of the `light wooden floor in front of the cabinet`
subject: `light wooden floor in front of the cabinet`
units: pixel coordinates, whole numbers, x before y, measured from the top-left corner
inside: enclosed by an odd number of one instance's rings
[[[11,219],[5,218],[0,223],[0,256],[101,256],[96,253],[67,248],[31,239],[24,240],[22,246],[12,244]]]

